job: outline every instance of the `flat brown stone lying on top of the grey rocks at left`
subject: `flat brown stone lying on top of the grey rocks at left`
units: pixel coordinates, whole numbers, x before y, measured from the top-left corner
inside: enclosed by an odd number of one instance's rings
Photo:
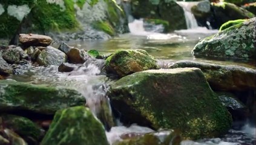
[[[49,36],[39,34],[19,34],[19,42],[26,47],[39,46],[47,47],[51,44],[53,39]]]

